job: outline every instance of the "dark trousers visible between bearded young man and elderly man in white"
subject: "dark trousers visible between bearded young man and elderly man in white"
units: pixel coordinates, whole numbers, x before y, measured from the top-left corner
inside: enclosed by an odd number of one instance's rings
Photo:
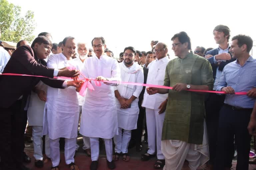
[[[145,114],[145,108],[141,107],[142,99],[139,99],[139,116],[137,120],[137,129],[132,130],[132,137],[135,140],[136,146],[141,145],[141,136],[143,131],[143,119]]]

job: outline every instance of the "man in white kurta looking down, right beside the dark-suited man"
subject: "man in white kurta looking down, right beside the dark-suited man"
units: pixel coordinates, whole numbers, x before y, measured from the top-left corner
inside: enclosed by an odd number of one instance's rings
[[[72,52],[75,52],[76,47],[73,42],[74,38],[68,38],[66,42],[64,40],[63,52],[52,54],[47,61],[47,67],[61,69],[67,66],[76,66],[76,63],[71,58]],[[71,48],[69,48],[70,46]],[[65,138],[64,153],[66,164],[74,163],[79,120],[76,89],[74,87],[65,89],[48,87],[46,108],[44,128],[48,127],[52,167],[58,166],[60,162],[60,137]]]

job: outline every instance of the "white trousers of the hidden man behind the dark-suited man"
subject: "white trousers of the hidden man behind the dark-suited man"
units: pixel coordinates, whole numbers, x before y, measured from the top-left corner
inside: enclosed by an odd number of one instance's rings
[[[32,126],[32,138],[33,138],[35,160],[43,160],[42,131],[43,131],[43,126]],[[45,154],[48,158],[51,157],[48,134],[45,135]]]

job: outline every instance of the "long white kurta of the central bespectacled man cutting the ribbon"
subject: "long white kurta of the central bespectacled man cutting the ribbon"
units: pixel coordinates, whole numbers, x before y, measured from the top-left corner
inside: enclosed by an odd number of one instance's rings
[[[87,58],[81,71],[88,78],[103,76],[108,80],[120,81],[120,69],[117,60],[106,55],[102,55],[100,59],[96,55]],[[113,88],[118,84],[101,83],[101,86],[98,87],[92,81],[92,85],[95,90],[87,90],[82,106],[79,132],[88,137],[111,139],[118,134]]]

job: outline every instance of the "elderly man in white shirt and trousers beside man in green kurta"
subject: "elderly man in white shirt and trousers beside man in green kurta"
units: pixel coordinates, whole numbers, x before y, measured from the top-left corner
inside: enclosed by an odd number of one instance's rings
[[[165,43],[158,42],[153,53],[157,59],[151,62],[148,70],[147,84],[163,85],[165,77],[165,68],[170,61],[167,57],[168,47]],[[146,108],[146,123],[148,131],[147,153],[141,155],[143,161],[157,154],[155,168],[163,168],[165,164],[164,155],[161,151],[161,136],[165,117],[165,109],[168,94],[149,95],[144,93],[142,107]]]

